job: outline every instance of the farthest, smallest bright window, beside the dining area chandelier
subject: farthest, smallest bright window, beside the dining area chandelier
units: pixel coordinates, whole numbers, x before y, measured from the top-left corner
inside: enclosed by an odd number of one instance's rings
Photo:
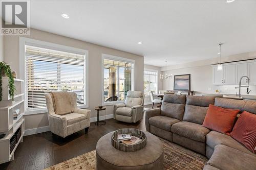
[[[144,70],[144,94],[157,93],[157,70]]]

